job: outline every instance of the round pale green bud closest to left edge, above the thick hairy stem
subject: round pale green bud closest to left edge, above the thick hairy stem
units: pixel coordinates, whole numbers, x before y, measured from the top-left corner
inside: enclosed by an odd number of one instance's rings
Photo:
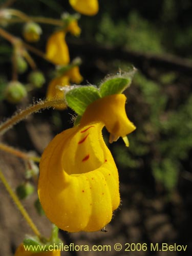
[[[5,92],[5,99],[7,101],[13,104],[18,103],[26,96],[27,90],[22,83],[20,83],[19,81],[11,81],[8,83]]]

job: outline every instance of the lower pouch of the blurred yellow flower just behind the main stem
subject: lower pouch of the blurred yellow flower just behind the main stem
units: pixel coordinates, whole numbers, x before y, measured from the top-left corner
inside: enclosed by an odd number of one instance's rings
[[[59,90],[59,87],[69,86],[69,77],[68,76],[61,76],[54,78],[48,86],[46,98],[48,100],[52,99],[63,99],[63,104],[58,104],[55,108],[57,110],[66,109],[66,103],[64,100],[64,92]]]

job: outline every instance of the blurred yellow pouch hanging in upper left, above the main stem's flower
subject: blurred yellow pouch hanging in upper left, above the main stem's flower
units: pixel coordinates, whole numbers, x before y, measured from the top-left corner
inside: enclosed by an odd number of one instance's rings
[[[70,62],[69,49],[65,41],[65,32],[53,33],[47,42],[46,56],[55,65],[67,65]]]

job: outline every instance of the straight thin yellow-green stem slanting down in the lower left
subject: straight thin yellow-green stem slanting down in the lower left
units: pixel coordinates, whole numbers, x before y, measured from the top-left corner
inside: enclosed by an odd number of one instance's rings
[[[31,229],[33,230],[33,232],[36,234],[36,236],[41,239],[41,234],[38,231],[37,227],[35,226],[35,224],[33,223],[32,219],[30,218],[30,216],[28,215],[28,212],[26,211],[26,209],[24,208],[24,206],[22,205],[22,203],[19,201],[18,197],[16,196],[16,194],[14,193],[14,191],[12,190],[12,188],[10,187],[9,183],[7,182],[4,174],[2,173],[1,169],[0,169],[0,180],[2,180],[5,188],[7,189],[10,197],[13,199],[14,203],[16,204],[17,208],[19,209],[20,213],[23,215],[23,217],[25,218],[25,220],[27,221],[27,223],[29,224],[29,226],[31,227]]]

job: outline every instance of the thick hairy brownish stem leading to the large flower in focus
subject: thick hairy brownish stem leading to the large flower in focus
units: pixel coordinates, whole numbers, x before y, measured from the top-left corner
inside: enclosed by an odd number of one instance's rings
[[[19,121],[25,119],[27,116],[38,112],[41,109],[54,108],[58,104],[66,106],[64,99],[53,99],[53,100],[40,100],[37,104],[29,106],[27,109],[14,114],[10,119],[0,125],[0,135],[7,132],[11,127]]]

